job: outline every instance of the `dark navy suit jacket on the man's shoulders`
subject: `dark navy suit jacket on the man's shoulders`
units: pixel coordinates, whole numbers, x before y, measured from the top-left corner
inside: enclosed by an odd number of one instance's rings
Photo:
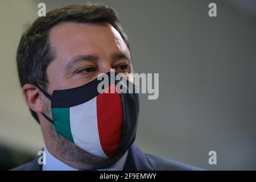
[[[42,165],[38,164],[38,158],[31,163],[24,164],[22,166],[12,169],[14,171],[42,171]],[[130,149],[126,159],[124,171],[151,171],[151,170],[202,170],[201,168],[188,166],[173,160],[160,158],[154,155],[144,154],[135,144]]]

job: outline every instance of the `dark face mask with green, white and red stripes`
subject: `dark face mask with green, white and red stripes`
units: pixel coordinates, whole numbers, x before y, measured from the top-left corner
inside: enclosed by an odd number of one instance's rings
[[[98,93],[100,82],[96,78],[77,88],[53,90],[52,96],[35,86],[51,100],[53,120],[42,114],[57,133],[90,154],[110,159],[125,154],[135,140],[139,100],[137,93]],[[109,81],[106,89],[117,83]]]

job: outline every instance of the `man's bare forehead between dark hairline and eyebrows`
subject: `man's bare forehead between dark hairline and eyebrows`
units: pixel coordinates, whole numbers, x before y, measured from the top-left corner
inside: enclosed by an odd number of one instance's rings
[[[109,23],[61,23],[50,31],[49,42],[56,56],[65,59],[81,54],[129,53],[122,36]]]

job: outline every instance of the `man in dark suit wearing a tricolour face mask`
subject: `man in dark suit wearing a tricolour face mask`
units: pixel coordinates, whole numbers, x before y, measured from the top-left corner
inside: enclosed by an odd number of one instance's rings
[[[73,5],[36,19],[20,39],[16,61],[23,96],[42,129],[46,164],[36,158],[15,170],[199,169],[143,154],[133,144],[137,96],[88,98],[100,73],[133,73],[127,37],[110,7]],[[111,99],[93,122],[92,107],[98,112],[98,102],[106,98]],[[77,109],[80,104],[83,111]]]

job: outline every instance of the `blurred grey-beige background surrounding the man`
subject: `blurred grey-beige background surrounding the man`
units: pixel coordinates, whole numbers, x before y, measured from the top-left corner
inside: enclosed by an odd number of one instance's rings
[[[87,1],[0,1],[0,169],[35,158],[39,125],[23,100],[15,53],[38,16]],[[141,94],[137,145],[208,170],[256,169],[256,1],[90,1],[117,10],[138,73],[159,73],[159,98]],[[208,5],[217,5],[217,17]],[[217,152],[209,165],[208,152]]]

